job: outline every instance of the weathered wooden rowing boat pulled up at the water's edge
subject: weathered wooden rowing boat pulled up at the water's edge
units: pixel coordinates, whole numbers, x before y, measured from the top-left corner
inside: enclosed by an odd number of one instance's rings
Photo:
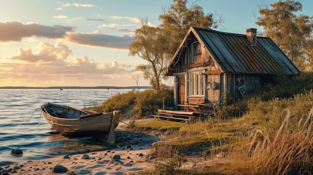
[[[115,142],[120,111],[96,113],[52,103],[41,105],[40,110],[50,126],[62,135],[94,136],[106,143]]]

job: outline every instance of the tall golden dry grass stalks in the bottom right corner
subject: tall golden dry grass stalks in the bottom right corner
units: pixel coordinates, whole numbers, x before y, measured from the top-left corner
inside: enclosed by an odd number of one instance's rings
[[[299,120],[297,130],[288,130],[291,112],[288,111],[282,125],[273,140],[268,137],[249,144],[248,152],[252,152],[253,168],[251,175],[311,175],[313,171],[313,108],[304,123]],[[255,135],[256,136],[256,135]]]

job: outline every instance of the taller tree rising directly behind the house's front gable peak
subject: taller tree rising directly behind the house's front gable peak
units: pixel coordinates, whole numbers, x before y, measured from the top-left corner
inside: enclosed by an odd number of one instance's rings
[[[159,26],[164,29],[171,41],[168,43],[170,56],[173,56],[190,27],[222,27],[224,21],[222,16],[218,16],[217,13],[205,15],[203,8],[195,5],[197,0],[191,3],[190,8],[186,7],[188,0],[173,0],[173,2],[169,7],[163,6],[162,14],[158,16],[161,21]]]

